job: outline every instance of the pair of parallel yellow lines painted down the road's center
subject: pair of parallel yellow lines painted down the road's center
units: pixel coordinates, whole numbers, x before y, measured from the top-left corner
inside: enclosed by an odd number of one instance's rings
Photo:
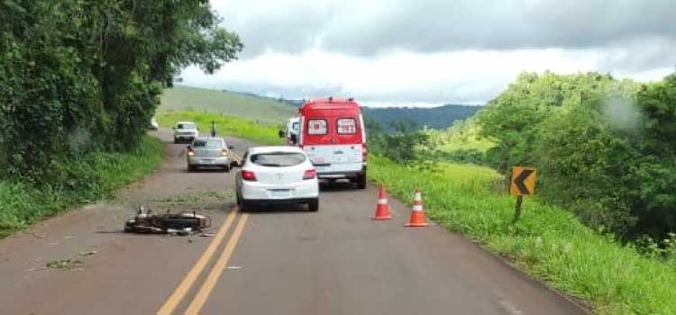
[[[160,311],[157,312],[157,315],[171,315],[172,312],[176,310],[178,303],[180,303],[183,298],[185,298],[190,288],[193,286],[193,284],[195,284],[197,277],[202,274],[206,264],[211,260],[211,257],[214,256],[216,249],[218,249],[218,247],[221,245],[225,235],[228,232],[228,229],[230,229],[230,227],[233,225],[237,213],[238,211],[231,211],[230,214],[228,214],[224,225],[221,227],[221,229],[218,229],[214,239],[211,241],[209,246],[206,247],[205,252],[201,257],[199,257],[199,259],[197,259],[195,266],[190,269],[186,277],[183,278],[183,281],[178,284],[178,287],[174,293],[171,293],[169,299],[164,302],[160,308]],[[221,274],[223,274],[224,268],[227,266],[230,257],[233,256],[234,247],[237,245],[237,242],[242,236],[244,225],[246,224],[246,220],[248,218],[248,213],[242,213],[240,220],[237,222],[237,226],[233,230],[233,234],[225,244],[223,253],[221,253],[220,257],[218,257],[218,260],[216,260],[211,272],[209,272],[209,275],[206,276],[204,284],[202,284],[199,291],[196,293],[195,298],[188,305],[185,315],[197,315],[197,313],[202,310],[206,299],[214,290],[218,278],[221,276]]]

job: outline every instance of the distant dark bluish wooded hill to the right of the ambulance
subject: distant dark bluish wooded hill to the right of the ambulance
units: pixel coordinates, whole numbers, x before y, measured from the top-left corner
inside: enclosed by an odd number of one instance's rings
[[[434,108],[414,107],[363,107],[362,112],[366,119],[378,122],[388,129],[391,121],[416,121],[417,128],[446,129],[454,121],[460,121],[474,115],[481,106],[443,105]]]

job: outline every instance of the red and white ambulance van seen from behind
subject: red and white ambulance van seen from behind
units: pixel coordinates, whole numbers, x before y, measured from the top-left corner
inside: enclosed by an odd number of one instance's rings
[[[323,98],[300,109],[298,145],[310,157],[320,179],[349,179],[366,188],[366,131],[354,99]]]

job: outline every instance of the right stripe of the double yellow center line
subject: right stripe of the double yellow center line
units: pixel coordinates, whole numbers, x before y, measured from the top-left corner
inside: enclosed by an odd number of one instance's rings
[[[237,241],[242,236],[242,231],[244,230],[244,225],[248,218],[249,213],[243,213],[240,217],[239,222],[237,222],[237,227],[234,228],[233,236],[225,245],[223,254],[221,254],[221,257],[218,257],[218,261],[216,261],[214,268],[211,269],[209,275],[206,276],[205,283],[202,284],[199,292],[195,295],[195,299],[193,299],[193,302],[187,307],[186,315],[197,315],[197,313],[202,310],[202,306],[204,306],[206,299],[214,290],[216,281],[218,281],[218,278],[223,274],[225,266],[227,266],[230,257],[233,255],[234,247],[237,246]]]

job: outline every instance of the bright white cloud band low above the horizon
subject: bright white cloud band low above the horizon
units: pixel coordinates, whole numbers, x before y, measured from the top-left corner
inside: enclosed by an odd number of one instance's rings
[[[183,78],[187,85],[288,98],[333,94],[371,102],[484,103],[522,71],[593,71],[606,63],[609,55],[622,53],[607,49],[395,51],[365,58],[313,49],[300,54],[268,52],[238,60],[214,76],[188,68]],[[670,71],[664,67],[609,72],[651,80]]]

